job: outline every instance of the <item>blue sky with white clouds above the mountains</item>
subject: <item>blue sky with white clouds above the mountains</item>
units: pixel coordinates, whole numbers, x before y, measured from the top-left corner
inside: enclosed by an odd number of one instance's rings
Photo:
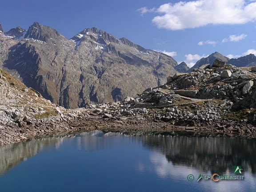
[[[4,31],[34,21],[68,39],[96,27],[190,67],[216,51],[256,55],[256,0],[1,0]]]

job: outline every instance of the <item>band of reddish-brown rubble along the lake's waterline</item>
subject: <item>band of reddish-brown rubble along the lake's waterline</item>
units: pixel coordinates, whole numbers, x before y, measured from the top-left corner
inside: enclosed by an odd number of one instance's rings
[[[183,124],[182,124],[183,123]],[[256,138],[256,128],[247,122],[221,121],[183,121],[158,120],[144,116],[106,116],[86,110],[60,117],[37,119],[32,122],[13,122],[0,125],[0,146],[32,138],[55,136],[68,132],[120,132],[128,135],[172,135],[195,137],[240,137]]]

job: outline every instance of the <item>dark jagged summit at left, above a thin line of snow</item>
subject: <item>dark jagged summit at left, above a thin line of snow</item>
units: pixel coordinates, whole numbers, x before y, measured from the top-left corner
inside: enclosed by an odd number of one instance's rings
[[[45,25],[40,25],[38,22],[34,22],[29,28],[24,38],[32,38],[47,42],[50,39],[57,39],[60,37],[60,33],[56,29],[50,28]]]

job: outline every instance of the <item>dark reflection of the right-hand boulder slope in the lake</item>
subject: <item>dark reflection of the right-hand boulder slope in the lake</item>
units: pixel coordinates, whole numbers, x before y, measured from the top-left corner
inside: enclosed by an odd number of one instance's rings
[[[148,148],[161,152],[174,165],[196,168],[200,172],[233,172],[234,165],[256,173],[256,140],[237,138],[142,137]]]

